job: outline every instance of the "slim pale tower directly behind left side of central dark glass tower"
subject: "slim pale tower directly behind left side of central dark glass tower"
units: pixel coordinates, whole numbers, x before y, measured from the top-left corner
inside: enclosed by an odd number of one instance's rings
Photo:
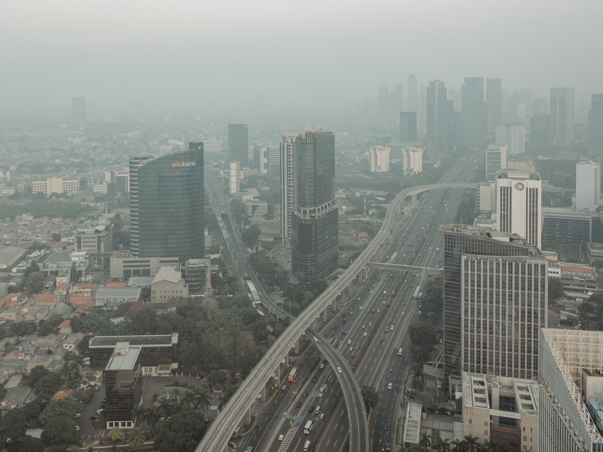
[[[291,246],[291,217],[295,208],[295,139],[306,130],[283,130],[280,139],[280,236]]]

